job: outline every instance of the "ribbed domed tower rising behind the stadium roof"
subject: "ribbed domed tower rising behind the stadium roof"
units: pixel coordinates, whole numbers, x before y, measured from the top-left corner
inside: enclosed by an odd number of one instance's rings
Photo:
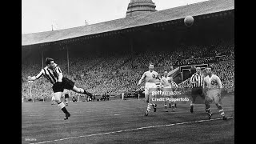
[[[152,0],[130,0],[126,11],[126,17],[137,16],[140,14],[149,14],[155,10],[155,5]]]

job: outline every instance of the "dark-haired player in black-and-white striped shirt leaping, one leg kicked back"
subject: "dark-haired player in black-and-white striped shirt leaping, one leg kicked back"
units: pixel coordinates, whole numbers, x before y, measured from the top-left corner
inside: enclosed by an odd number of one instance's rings
[[[55,101],[58,103],[61,110],[66,114],[64,120],[70,117],[70,113],[66,110],[65,104],[60,99],[64,89],[73,90],[79,94],[92,95],[89,92],[86,92],[86,90],[74,86],[74,82],[72,82],[70,79],[63,77],[62,70],[54,62],[53,58],[46,58],[46,67],[44,67],[36,76],[28,76],[28,79],[30,81],[34,81],[41,78],[42,75],[44,75],[50,81],[50,83],[53,84],[52,88],[54,90]]]

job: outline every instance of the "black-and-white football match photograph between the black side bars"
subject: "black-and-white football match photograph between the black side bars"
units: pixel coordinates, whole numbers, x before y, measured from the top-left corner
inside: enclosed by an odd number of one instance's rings
[[[24,144],[235,143],[234,0],[22,0]]]

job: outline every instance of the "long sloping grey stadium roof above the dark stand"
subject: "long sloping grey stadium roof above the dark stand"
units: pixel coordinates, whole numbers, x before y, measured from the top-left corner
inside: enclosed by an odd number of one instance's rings
[[[185,18],[187,15],[197,16],[225,10],[234,10],[234,0],[209,0],[166,10],[159,10],[151,14],[120,18],[87,26],[32,34],[22,34],[22,46],[29,46],[45,42],[56,42],[90,34],[100,34],[136,26],[145,26],[158,22],[172,21],[175,19]]]

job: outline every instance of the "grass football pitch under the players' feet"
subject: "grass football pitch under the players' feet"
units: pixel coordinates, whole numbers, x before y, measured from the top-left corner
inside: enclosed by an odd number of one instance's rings
[[[24,102],[22,143],[234,143],[234,95],[222,99],[226,121],[214,104],[208,120],[203,104],[190,114],[190,102],[178,104],[175,112],[156,103],[157,112],[151,109],[145,117],[142,99],[70,102],[71,117],[64,121],[57,105]]]

